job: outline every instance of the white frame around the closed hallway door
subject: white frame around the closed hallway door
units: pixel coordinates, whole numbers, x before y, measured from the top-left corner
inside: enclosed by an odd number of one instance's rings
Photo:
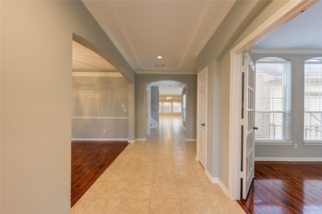
[[[196,154],[196,160],[199,161],[199,146],[200,146],[200,142],[199,142],[199,108],[200,108],[200,105],[199,105],[199,79],[200,79],[200,76],[203,74],[203,73],[206,73],[206,84],[207,84],[207,87],[206,87],[206,93],[207,93],[207,90],[208,90],[208,66],[204,67],[201,72],[198,73],[197,75],[197,124],[196,124],[196,127],[197,127],[197,154]],[[207,125],[207,103],[208,103],[208,98],[207,98],[207,94],[206,94],[206,97],[205,97],[205,102],[206,102],[206,117],[205,117],[205,123]],[[208,126],[207,126],[208,127]],[[207,128],[205,128],[205,140],[206,140],[206,143],[205,143],[205,170],[207,170]]]

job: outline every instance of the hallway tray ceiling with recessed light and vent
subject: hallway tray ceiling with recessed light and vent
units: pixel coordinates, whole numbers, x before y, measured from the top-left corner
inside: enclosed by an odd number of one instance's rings
[[[137,74],[196,74],[197,55],[234,2],[83,1]]]

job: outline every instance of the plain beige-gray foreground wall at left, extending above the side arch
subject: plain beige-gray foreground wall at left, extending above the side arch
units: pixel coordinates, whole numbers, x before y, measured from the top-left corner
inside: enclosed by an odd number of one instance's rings
[[[70,213],[73,38],[134,82],[81,1],[1,1],[1,213]]]

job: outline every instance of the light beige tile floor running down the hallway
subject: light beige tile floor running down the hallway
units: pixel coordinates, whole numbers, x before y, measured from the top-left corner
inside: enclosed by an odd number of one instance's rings
[[[160,117],[148,140],[129,144],[71,213],[245,213],[210,182],[181,124],[181,118]]]

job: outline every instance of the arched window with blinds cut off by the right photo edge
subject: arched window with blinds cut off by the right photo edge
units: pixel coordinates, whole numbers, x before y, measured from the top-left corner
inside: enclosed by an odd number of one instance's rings
[[[304,141],[321,141],[322,57],[304,62]]]

